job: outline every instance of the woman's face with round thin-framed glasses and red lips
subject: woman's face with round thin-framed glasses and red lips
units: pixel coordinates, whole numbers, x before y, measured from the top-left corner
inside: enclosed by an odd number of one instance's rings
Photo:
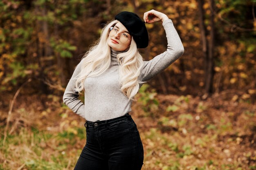
[[[130,46],[132,36],[121,22],[113,27],[108,35],[108,45],[115,51],[125,51]]]

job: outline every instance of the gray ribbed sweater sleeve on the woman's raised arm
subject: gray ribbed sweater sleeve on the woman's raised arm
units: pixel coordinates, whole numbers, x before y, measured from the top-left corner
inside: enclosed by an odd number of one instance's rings
[[[167,50],[164,53],[155,56],[152,60],[144,61],[141,68],[139,79],[141,81],[148,81],[152,79],[158,73],[164,71],[175,60],[177,60],[183,53],[184,47],[180,40],[180,37],[173,26],[171,19],[164,20],[162,23],[166,32],[167,38]]]

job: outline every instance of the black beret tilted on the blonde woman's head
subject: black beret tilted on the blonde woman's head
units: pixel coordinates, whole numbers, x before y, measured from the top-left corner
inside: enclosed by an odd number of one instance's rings
[[[146,25],[136,13],[123,11],[115,16],[115,20],[119,20],[126,27],[135,40],[137,48],[143,49],[148,46]]]

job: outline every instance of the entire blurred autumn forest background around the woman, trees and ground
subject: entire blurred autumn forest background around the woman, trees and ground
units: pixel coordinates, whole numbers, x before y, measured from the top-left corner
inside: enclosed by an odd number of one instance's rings
[[[256,0],[0,0],[0,170],[70,170],[85,120],[63,104],[74,67],[120,11],[173,21],[184,55],[131,115],[144,170],[256,170]],[[146,24],[145,60],[166,50]],[[83,96],[81,96],[83,101]]]

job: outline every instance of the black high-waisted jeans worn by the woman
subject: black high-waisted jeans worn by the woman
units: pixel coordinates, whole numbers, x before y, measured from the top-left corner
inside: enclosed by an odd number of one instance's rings
[[[131,115],[86,121],[86,144],[74,170],[141,170],[144,150]]]

